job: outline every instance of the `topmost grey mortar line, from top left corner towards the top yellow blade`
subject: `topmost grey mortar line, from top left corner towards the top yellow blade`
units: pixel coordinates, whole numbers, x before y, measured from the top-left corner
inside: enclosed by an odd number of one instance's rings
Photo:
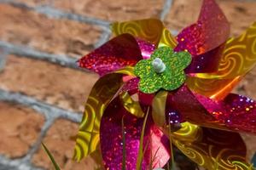
[[[67,11],[52,8],[49,5],[41,5],[36,7],[28,6],[26,3],[18,3],[15,0],[0,0],[0,3],[7,3],[16,8],[26,8],[27,10],[32,10],[37,12],[38,14],[44,14],[49,18],[54,19],[67,19],[67,20],[75,20],[81,23],[87,23],[90,25],[102,26],[107,28],[109,26],[109,22],[106,20],[96,19],[94,17],[89,17],[81,14],[73,14]]]

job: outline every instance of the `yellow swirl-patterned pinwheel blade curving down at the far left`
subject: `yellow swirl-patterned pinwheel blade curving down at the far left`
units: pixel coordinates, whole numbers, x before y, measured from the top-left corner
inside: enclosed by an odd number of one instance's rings
[[[80,161],[84,156],[97,150],[102,114],[122,86],[123,75],[133,75],[131,67],[101,77],[87,99],[84,116],[79,126],[73,158]]]

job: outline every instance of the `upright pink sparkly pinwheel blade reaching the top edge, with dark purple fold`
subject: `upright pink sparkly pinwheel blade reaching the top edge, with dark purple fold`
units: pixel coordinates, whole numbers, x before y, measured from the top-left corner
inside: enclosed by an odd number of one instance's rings
[[[229,34],[230,24],[218,4],[214,0],[204,0],[197,22],[177,35],[175,51],[188,50],[194,56],[187,72],[216,71],[223,52],[223,47],[218,47]]]

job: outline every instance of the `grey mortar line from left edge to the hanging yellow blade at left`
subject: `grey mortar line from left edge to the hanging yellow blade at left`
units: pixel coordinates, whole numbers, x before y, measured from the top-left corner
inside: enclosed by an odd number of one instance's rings
[[[49,105],[38,99],[34,99],[25,94],[9,92],[0,89],[0,100],[13,102],[20,105],[25,105],[44,115],[46,120],[49,118],[61,117],[71,122],[79,123],[82,120],[82,114],[73,111],[66,111],[54,105]]]

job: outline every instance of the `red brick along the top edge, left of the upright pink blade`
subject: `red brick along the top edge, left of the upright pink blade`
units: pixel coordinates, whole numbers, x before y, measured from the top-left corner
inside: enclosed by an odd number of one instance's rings
[[[148,17],[158,17],[163,8],[162,0],[19,0],[32,6],[48,4],[55,8],[61,8],[68,12],[84,14],[102,20],[137,20]]]

